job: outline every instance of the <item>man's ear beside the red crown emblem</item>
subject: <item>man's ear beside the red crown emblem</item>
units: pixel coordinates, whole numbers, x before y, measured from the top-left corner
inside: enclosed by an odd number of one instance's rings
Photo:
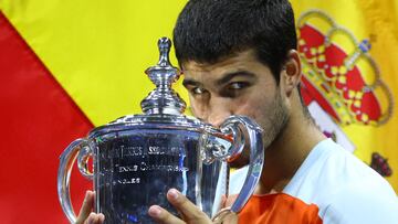
[[[286,96],[290,96],[292,92],[297,87],[301,82],[302,67],[300,55],[297,51],[291,50],[287,53],[287,61],[285,62],[283,70],[281,71],[281,85]]]

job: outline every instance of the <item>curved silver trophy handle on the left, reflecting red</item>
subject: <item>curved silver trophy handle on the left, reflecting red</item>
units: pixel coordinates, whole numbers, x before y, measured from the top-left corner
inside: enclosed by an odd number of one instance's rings
[[[87,139],[76,139],[70,143],[60,157],[60,168],[57,171],[57,194],[63,212],[71,223],[76,222],[76,215],[73,211],[70,180],[73,164],[77,157],[77,167],[81,173],[87,178],[93,179],[93,173],[87,169],[87,161],[92,150]]]

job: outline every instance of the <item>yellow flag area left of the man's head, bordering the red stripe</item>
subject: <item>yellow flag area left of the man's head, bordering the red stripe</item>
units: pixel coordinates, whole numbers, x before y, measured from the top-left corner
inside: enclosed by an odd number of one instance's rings
[[[98,126],[140,113],[140,100],[153,89],[144,71],[157,63],[157,40],[171,38],[185,3],[3,0],[0,8]],[[171,60],[176,65],[172,56]]]

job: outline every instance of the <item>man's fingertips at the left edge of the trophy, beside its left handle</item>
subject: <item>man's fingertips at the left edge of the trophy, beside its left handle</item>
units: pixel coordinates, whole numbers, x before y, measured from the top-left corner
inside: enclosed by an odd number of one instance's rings
[[[105,216],[93,211],[95,193],[87,191],[75,224],[102,224]]]

